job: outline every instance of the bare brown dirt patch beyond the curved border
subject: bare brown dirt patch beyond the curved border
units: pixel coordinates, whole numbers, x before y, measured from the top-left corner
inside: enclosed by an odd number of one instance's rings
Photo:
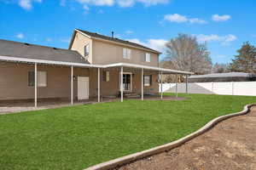
[[[220,122],[207,133],[119,170],[255,170],[256,107],[246,116]]]

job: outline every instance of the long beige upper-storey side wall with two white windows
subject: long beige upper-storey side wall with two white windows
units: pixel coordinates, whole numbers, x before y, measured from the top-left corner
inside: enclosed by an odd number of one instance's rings
[[[131,59],[124,59],[123,48],[127,48],[125,46],[111,42],[93,40],[92,47],[93,64],[105,65],[113,63],[131,63],[137,65],[159,66],[158,54],[150,53],[142,49],[131,48]],[[150,62],[144,61],[146,53],[151,54]]]

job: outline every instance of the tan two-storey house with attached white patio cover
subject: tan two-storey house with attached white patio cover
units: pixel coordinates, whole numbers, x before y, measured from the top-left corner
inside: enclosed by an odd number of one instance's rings
[[[76,29],[68,49],[0,40],[0,101],[98,99],[159,93],[160,52]]]

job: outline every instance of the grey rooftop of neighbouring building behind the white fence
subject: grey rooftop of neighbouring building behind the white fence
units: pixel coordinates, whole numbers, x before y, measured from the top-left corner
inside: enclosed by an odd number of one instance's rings
[[[193,75],[189,78],[213,78],[213,77],[256,77],[255,74],[245,72],[214,73],[207,75]]]

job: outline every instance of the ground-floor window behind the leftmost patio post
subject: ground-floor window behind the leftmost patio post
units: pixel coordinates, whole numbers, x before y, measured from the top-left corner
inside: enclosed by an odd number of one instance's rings
[[[35,86],[35,72],[28,72],[28,86]],[[38,71],[38,87],[47,87],[47,74],[46,71]]]

